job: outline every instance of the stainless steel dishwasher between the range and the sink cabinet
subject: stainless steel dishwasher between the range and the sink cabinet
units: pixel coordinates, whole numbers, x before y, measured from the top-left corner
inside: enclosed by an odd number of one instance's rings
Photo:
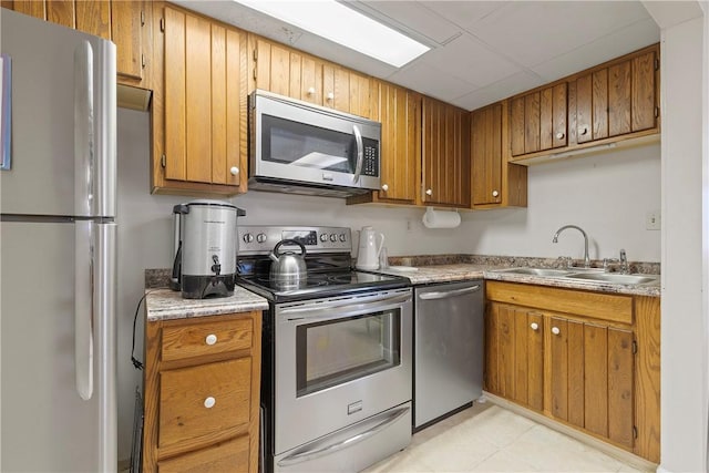
[[[482,395],[482,280],[414,287],[414,430]]]

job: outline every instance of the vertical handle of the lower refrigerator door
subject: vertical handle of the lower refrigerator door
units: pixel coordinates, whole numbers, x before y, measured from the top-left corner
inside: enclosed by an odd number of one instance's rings
[[[93,395],[93,225],[74,223],[74,363],[84,401]]]

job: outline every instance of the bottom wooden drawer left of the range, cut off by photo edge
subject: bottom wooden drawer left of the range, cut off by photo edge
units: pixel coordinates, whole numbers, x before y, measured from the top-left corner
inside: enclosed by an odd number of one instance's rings
[[[157,462],[160,473],[247,472],[248,435]]]

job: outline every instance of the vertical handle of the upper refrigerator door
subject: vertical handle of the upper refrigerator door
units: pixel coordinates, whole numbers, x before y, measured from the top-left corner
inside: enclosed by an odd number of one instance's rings
[[[92,215],[94,177],[93,48],[74,49],[74,215]]]

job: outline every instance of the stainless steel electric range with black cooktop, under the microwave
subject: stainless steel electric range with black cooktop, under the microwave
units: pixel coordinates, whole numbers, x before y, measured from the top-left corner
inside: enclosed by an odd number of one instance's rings
[[[237,282],[269,300],[261,343],[265,471],[356,472],[405,448],[409,279],[352,270],[349,228],[239,226],[238,233]],[[286,287],[268,277],[268,253],[284,239],[304,244],[307,263],[307,279]]]

